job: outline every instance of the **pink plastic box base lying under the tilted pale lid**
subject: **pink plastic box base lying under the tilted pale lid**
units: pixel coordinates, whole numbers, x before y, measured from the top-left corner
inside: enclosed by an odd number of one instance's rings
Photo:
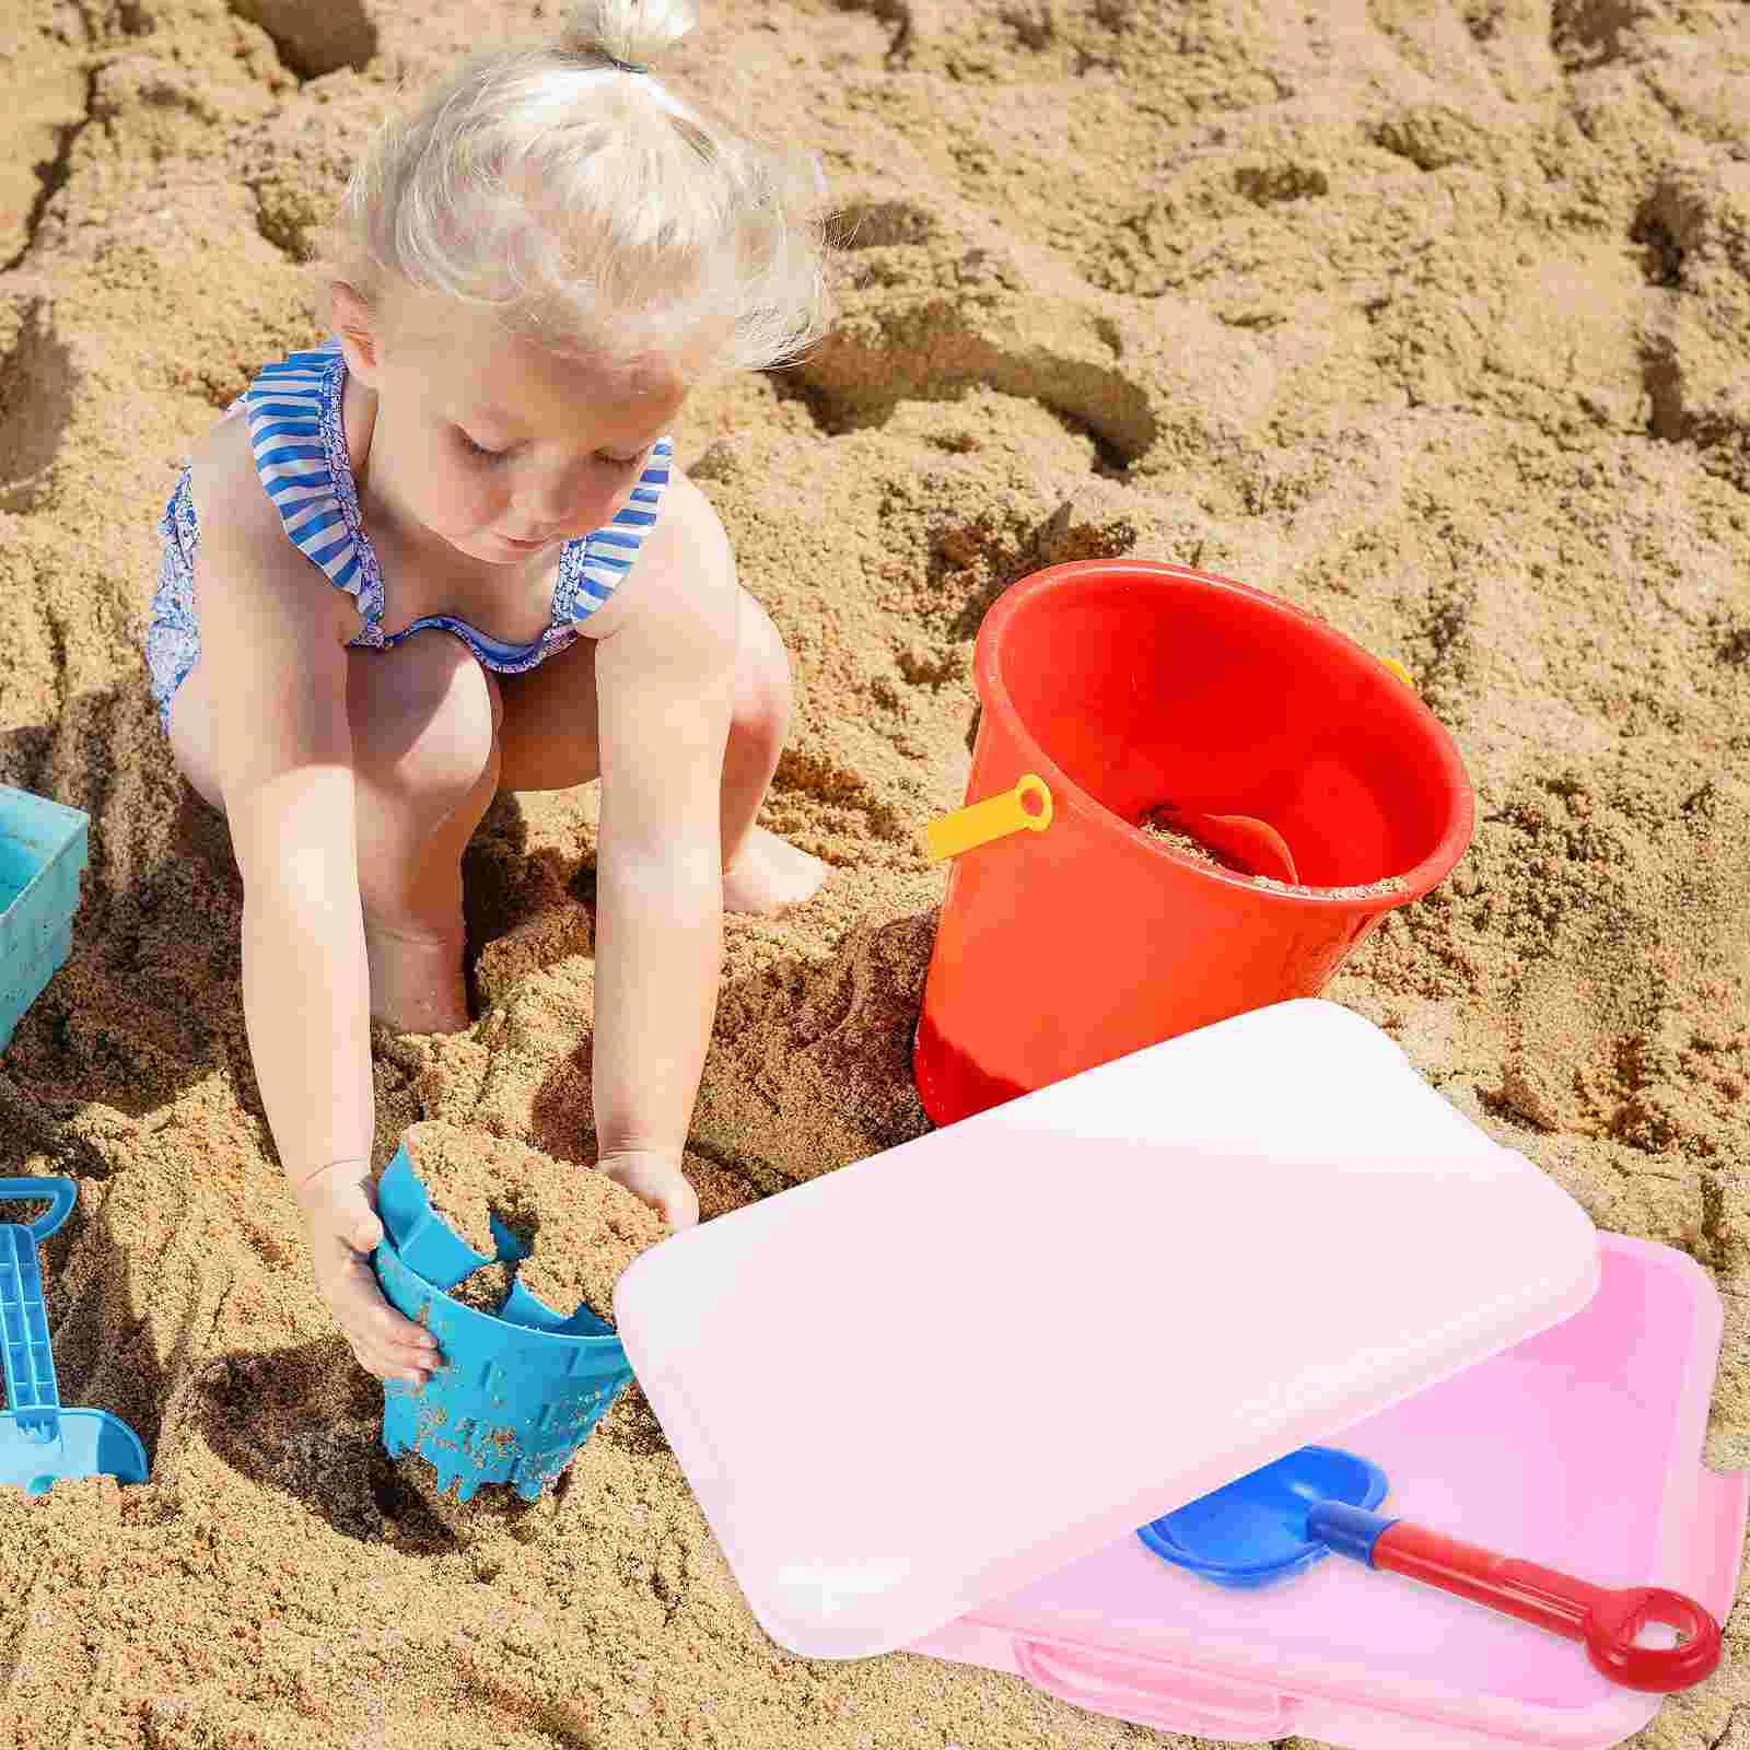
[[[1724,1622],[1746,1480],[1699,1461],[1718,1295],[1666,1246],[1606,1236],[1603,1260],[1584,1312],[1335,1444],[1384,1468],[1388,1512],[1605,1586],[1671,1586]],[[1605,1750],[1661,1701],[1614,1687],[1570,1642],[1353,1563],[1242,1594],[1169,1568],[1134,1536],[915,1650],[1232,1743]]]

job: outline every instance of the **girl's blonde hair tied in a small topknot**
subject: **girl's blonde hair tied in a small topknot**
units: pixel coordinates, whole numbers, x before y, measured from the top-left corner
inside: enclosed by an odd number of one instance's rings
[[[830,322],[824,177],[651,70],[691,0],[583,0],[546,46],[485,54],[373,136],[318,268],[396,280],[555,350],[698,380],[800,357]]]

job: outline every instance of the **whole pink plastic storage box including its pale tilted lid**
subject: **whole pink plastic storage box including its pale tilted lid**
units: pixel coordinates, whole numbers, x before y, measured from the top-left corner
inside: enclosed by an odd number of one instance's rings
[[[915,1647],[1230,1740],[1608,1745],[1652,1717],[1580,1648],[1405,1582],[1325,1563],[1234,1594],[1136,1540],[1314,1440],[1382,1465],[1393,1512],[1731,1596],[1712,1286],[1600,1248],[1330,1003],[679,1234],[616,1314],[756,1617],[807,1657]]]

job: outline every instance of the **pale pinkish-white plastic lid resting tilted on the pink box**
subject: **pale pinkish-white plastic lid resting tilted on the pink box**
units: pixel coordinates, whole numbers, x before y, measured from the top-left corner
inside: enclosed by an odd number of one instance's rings
[[[646,1253],[616,1316],[754,1615],[903,1647],[1578,1311],[1584,1211],[1326,1003]]]

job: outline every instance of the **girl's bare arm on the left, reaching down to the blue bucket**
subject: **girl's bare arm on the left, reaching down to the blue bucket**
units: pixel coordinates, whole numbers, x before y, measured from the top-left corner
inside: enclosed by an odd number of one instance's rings
[[[350,609],[285,541],[240,432],[215,441],[194,488],[208,751],[243,875],[256,1080],[324,1298],[371,1372],[406,1377],[427,1335],[387,1306],[366,1264],[382,1230],[368,1200],[374,1099]]]

